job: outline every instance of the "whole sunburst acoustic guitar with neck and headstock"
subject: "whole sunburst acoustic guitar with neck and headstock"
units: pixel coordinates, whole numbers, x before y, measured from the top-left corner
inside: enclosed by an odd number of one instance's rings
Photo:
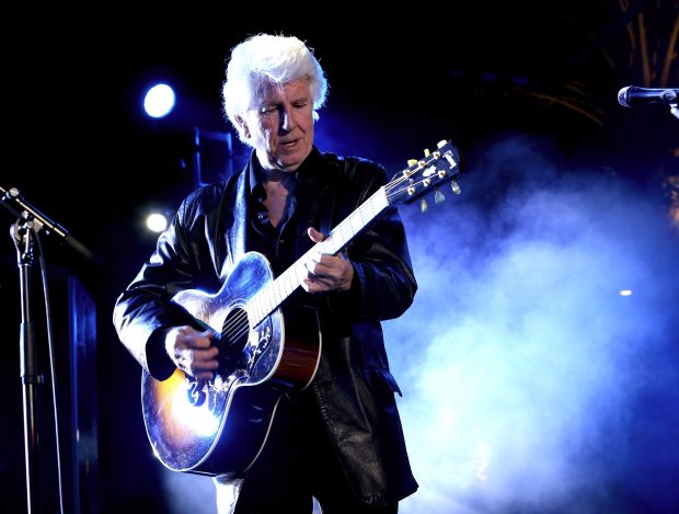
[[[196,380],[180,369],[157,380],[142,372],[143,421],[160,461],[174,471],[208,476],[246,471],[264,447],[280,398],[308,387],[319,365],[318,330],[286,330],[281,313],[284,300],[307,276],[309,256],[340,252],[391,205],[421,198],[424,209],[424,195],[436,190],[438,202],[438,187],[446,182],[459,193],[453,180],[459,173],[458,149],[440,141],[423,159],[408,161],[278,277],[264,255],[248,252],[217,293],[175,295],[173,301],[198,324],[219,334],[214,344],[220,366],[211,380]]]

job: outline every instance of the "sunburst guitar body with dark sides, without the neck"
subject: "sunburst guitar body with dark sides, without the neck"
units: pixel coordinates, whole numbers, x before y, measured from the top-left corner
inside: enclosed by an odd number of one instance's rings
[[[210,476],[242,473],[264,447],[283,395],[302,390],[313,379],[321,354],[315,312],[288,333],[280,308],[252,322],[249,302],[273,279],[266,258],[249,252],[217,294],[191,289],[173,298],[220,334],[215,343],[220,367],[208,381],[180,369],[162,381],[142,372],[147,435],[165,467]]]

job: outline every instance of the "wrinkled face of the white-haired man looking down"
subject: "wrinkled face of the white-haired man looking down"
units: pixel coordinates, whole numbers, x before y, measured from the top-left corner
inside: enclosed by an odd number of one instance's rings
[[[265,170],[296,171],[313,147],[313,101],[304,79],[264,90],[256,108],[239,117]]]

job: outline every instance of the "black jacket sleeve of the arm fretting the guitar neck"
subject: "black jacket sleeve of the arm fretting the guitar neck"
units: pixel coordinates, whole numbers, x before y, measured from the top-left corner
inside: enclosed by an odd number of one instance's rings
[[[384,169],[371,161],[356,159],[346,169],[347,191],[359,192],[349,201],[352,209],[387,183]],[[348,311],[359,321],[403,315],[414,300],[417,282],[398,209],[388,207],[352,241],[346,253],[354,265],[354,279],[349,292],[336,294],[335,308]]]

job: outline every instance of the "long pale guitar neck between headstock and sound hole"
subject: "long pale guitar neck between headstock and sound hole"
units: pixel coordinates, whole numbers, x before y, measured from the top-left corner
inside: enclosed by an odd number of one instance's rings
[[[260,289],[248,302],[248,312],[253,325],[262,322],[301,286],[307,277],[304,263],[312,254],[337,253],[380,216],[389,205],[389,197],[382,186],[337,225],[323,241],[315,243],[275,281]]]

